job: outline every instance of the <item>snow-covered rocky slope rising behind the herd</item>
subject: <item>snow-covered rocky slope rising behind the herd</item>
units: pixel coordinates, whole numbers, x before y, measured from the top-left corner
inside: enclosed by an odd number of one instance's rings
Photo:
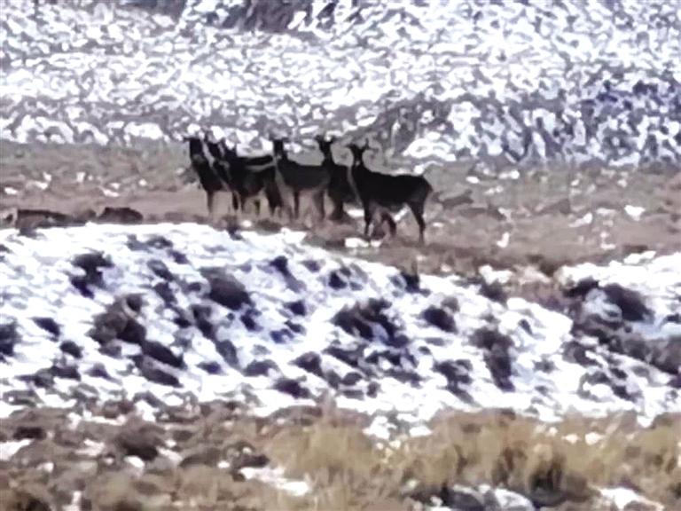
[[[678,0],[156,4],[5,3],[2,136],[199,124],[252,149],[371,135],[394,164],[681,161]]]

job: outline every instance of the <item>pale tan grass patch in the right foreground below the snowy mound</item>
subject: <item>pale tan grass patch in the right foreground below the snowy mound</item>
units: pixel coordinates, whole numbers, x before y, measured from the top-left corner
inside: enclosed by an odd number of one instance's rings
[[[630,414],[556,424],[505,413],[451,413],[429,436],[389,445],[325,417],[289,428],[264,446],[287,474],[309,480],[308,504],[371,509],[452,484],[489,483],[545,505],[568,500],[593,509],[597,489],[627,486],[669,506],[681,504],[681,416],[641,428]],[[388,508],[388,507],[383,507]]]

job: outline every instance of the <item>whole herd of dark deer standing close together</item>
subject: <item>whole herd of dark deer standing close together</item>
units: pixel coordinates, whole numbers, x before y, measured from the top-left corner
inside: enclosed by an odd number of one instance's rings
[[[286,212],[289,219],[300,216],[301,198],[311,201],[317,218],[325,219],[325,196],[333,204],[330,218],[341,221],[344,205],[359,200],[364,208],[364,236],[377,214],[380,224],[387,222],[395,236],[396,224],[391,213],[404,207],[411,209],[419,224],[419,241],[425,242],[426,222],[423,218],[426,200],[433,187],[424,177],[406,174],[388,175],[370,170],[364,164],[364,152],[369,148],[348,144],[353,161],[348,168],[333,161],[332,145],[335,138],[315,137],[324,160],[319,165],[305,165],[288,156],[286,139],[271,138],[272,154],[242,156],[236,145],[230,147],[224,139],[215,140],[209,135],[185,137],[189,142],[192,169],[206,192],[208,215],[215,215],[215,193],[231,192],[232,208],[245,211],[253,200],[255,212],[260,215],[261,197],[267,200],[270,216]]]

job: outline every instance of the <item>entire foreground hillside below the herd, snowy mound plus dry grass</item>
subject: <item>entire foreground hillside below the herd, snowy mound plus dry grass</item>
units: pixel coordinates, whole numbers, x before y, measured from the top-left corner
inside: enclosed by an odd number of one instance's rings
[[[0,232],[0,501],[681,502],[678,254],[563,267],[540,305],[500,286],[532,271],[416,275],[304,238],[198,224]]]

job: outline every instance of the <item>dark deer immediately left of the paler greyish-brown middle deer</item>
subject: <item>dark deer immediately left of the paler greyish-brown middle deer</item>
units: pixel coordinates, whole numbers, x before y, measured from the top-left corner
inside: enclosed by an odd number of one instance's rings
[[[276,183],[274,158],[269,154],[239,156],[237,146],[228,146],[224,139],[219,146],[229,168],[231,188],[236,193],[232,197],[235,209],[245,211],[248,200],[254,199],[255,214],[260,216],[260,199],[257,197],[264,193],[270,216],[274,216],[275,211],[283,206]]]

